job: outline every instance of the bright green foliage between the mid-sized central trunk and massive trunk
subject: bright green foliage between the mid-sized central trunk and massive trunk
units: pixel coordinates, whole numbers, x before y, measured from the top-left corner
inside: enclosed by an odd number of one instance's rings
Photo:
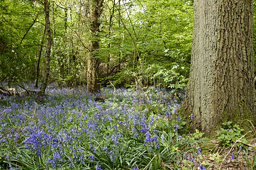
[[[107,6],[113,9],[113,4]],[[107,35],[101,38],[103,62],[110,57],[113,62],[109,67],[121,68],[108,79],[126,86],[136,82],[144,86],[186,86],[191,53],[191,2],[129,1],[126,6],[129,8],[116,6],[116,10],[128,16],[118,16],[123,26],[115,25],[116,18],[113,19],[111,35],[108,33],[111,16],[106,12]],[[119,15],[118,11],[113,16]]]

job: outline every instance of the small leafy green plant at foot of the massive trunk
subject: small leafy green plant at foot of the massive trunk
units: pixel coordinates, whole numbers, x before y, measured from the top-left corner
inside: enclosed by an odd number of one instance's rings
[[[221,128],[221,130],[216,135],[216,137],[218,137],[218,141],[221,142],[222,145],[229,146],[235,143],[236,146],[239,147],[247,143],[247,140],[242,135],[243,129],[239,128],[239,125],[232,125],[232,122],[230,121],[223,123],[222,125],[223,128]]]

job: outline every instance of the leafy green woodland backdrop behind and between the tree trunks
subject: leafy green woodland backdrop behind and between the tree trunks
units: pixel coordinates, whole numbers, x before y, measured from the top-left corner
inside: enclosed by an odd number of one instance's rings
[[[89,1],[49,1],[52,52],[50,81],[74,86],[87,81]],[[180,88],[187,84],[191,56],[192,1],[104,1],[99,31],[101,86]],[[0,6],[1,81],[36,77],[45,68],[43,1],[7,1]]]

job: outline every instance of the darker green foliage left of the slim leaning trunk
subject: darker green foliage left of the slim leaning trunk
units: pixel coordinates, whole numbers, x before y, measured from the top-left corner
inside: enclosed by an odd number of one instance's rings
[[[40,6],[33,1],[6,1],[0,5],[0,81],[31,79],[38,49]]]

